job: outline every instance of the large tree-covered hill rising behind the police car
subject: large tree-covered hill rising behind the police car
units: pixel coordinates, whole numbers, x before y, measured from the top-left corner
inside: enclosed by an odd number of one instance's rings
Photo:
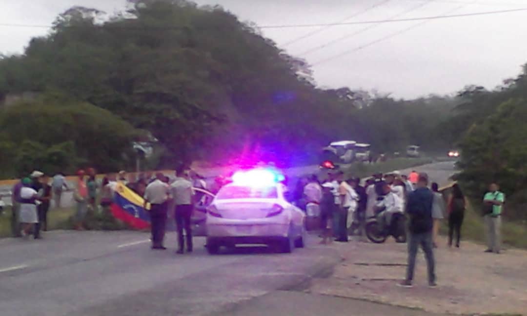
[[[339,139],[372,143],[377,152],[448,147],[435,137],[436,121],[456,100],[322,90],[304,61],[220,7],[129,3],[129,11],[104,23],[96,9],[61,14],[23,55],[0,60],[0,99],[52,90],[104,108],[161,142],[160,167],[248,153],[287,163]]]

